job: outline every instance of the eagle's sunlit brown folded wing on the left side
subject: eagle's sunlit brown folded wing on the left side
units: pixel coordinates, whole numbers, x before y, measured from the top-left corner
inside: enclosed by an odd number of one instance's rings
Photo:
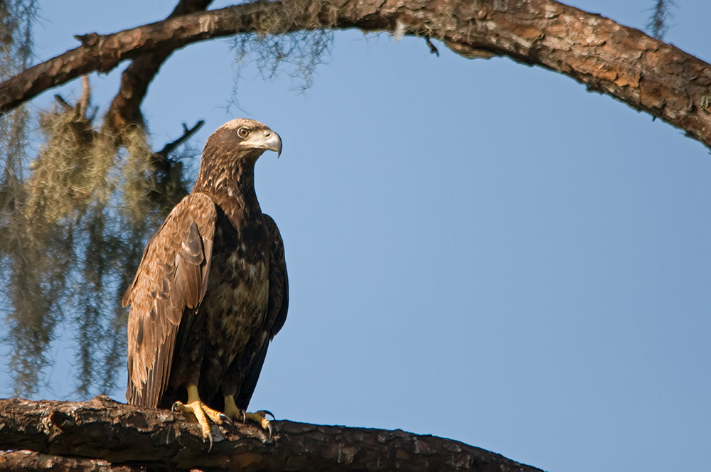
[[[155,408],[166,389],[178,326],[190,322],[208,288],[216,218],[213,200],[192,193],[146,246],[123,298],[124,306],[131,305],[129,404]]]

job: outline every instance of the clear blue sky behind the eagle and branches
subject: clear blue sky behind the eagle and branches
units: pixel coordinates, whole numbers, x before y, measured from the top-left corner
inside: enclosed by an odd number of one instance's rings
[[[711,4],[675,2],[667,40],[711,60]],[[36,53],[173,3],[41,1]],[[653,1],[573,4],[643,28]],[[250,407],[446,436],[553,472],[707,469],[707,149],[570,78],[439,51],[336,33],[304,95],[247,68],[242,109],[226,112],[234,58],[213,41],[151,85],[158,149],[182,122],[205,119],[202,146],[233,117],[284,142],[260,160],[257,193],[282,230],[291,304]],[[105,106],[118,74],[90,80]],[[75,398],[72,336],[40,397]]]

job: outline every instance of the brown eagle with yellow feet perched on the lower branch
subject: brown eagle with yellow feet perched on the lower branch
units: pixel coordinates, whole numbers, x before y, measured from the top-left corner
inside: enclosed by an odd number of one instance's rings
[[[193,412],[210,447],[205,416],[248,417],[271,434],[263,414],[245,412],[289,304],[282,237],[255,193],[267,149],[281,154],[282,140],[250,119],[208,138],[192,193],[151,238],[123,299],[129,404]]]

